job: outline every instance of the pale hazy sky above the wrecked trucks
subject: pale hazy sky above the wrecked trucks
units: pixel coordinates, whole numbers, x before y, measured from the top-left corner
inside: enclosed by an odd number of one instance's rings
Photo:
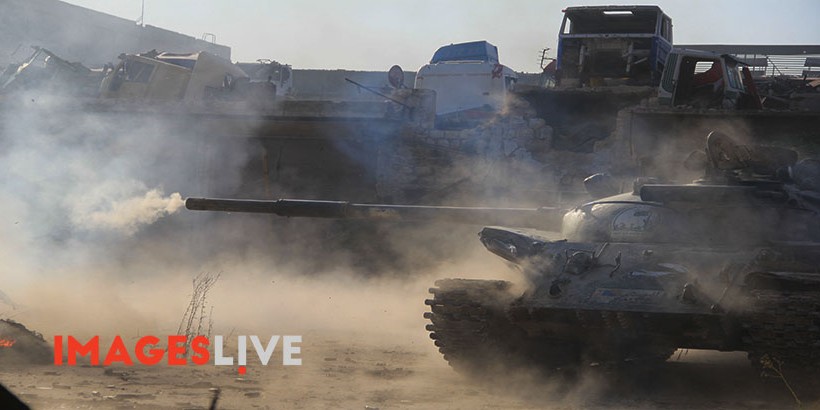
[[[677,44],[820,44],[818,0],[144,0],[146,24],[200,38],[212,33],[232,59],[294,68],[415,71],[440,46],[487,40],[501,63],[539,71],[554,57],[568,6],[655,4],[672,18]],[[129,20],[143,0],[67,0]]]

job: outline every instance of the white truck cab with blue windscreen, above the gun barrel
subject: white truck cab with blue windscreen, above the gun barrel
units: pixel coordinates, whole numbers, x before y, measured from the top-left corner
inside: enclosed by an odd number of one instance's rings
[[[499,111],[517,79],[499,63],[496,46],[473,41],[439,48],[418,70],[414,88],[436,92],[438,123],[461,123]]]

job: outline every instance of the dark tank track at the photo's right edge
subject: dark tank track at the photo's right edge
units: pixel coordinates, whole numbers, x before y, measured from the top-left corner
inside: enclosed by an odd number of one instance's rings
[[[820,375],[820,294],[778,290],[751,294],[753,313],[743,323],[743,341],[752,365],[771,373],[762,362],[768,356],[780,362],[784,372]]]

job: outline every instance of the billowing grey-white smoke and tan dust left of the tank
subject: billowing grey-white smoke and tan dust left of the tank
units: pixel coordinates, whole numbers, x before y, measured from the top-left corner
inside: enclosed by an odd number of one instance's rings
[[[0,272],[8,295],[0,314],[48,341],[99,335],[105,346],[115,335],[132,341],[174,334],[190,302],[192,279],[218,272],[208,295],[213,334],[228,340],[301,334],[303,358],[314,364],[334,340],[354,350],[387,343],[399,359],[423,358],[425,366],[441,368],[424,332],[427,288],[439,276],[509,271],[479,249],[466,259],[418,261],[432,266],[425,273],[366,276],[355,266],[378,255],[343,251],[344,239],[356,236],[355,226],[340,238],[326,231],[332,223],[288,220],[280,226],[290,225],[285,232],[298,235],[283,237],[267,216],[179,212],[185,194],[238,189],[239,174],[231,170],[245,165],[243,143],[225,150],[180,133],[175,124],[88,114],[44,96],[24,98],[21,109],[3,113],[0,131],[6,147],[0,154]],[[414,247],[424,247],[424,238],[441,229],[407,229],[407,235],[382,239],[403,247],[409,259],[421,259],[427,256],[414,255]],[[464,237],[456,232],[459,242],[478,249],[476,227]],[[437,251],[453,256],[447,248]],[[332,269],[311,263],[325,256],[346,263]],[[393,359],[384,359],[389,368],[367,374],[400,375],[396,366],[412,365]],[[168,380],[166,388],[178,383]]]

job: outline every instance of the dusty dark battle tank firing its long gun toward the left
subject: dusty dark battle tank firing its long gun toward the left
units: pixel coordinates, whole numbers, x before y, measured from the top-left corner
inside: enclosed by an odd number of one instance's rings
[[[690,348],[744,351],[761,369],[778,363],[783,371],[816,373],[820,161],[798,162],[793,151],[712,133],[687,163],[704,177],[685,185],[639,179],[632,192],[562,212],[560,240],[531,223],[548,220],[554,208],[494,214],[207,199],[186,206],[312,217],[446,215],[468,223],[518,218],[515,227],[484,227],[479,239],[526,283],[444,279],[425,301],[431,339],[461,372],[492,371],[491,357],[544,368],[651,364]]]

